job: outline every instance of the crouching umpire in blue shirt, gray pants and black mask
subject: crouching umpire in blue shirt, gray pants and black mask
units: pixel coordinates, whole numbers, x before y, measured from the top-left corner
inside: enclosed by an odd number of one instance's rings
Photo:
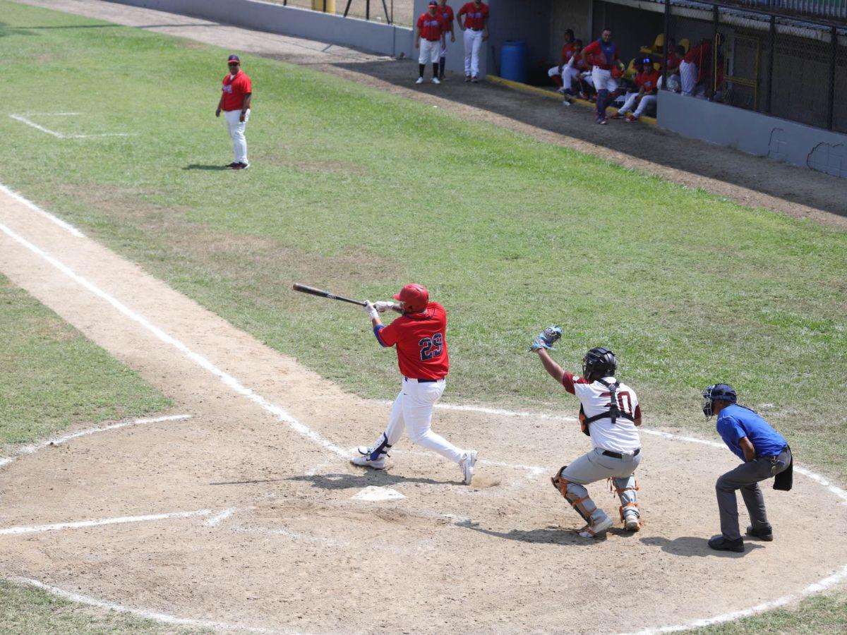
[[[756,411],[739,406],[735,389],[728,384],[714,384],[703,391],[703,414],[717,415],[717,433],[734,455],[744,461],[717,479],[717,509],[721,514],[721,535],[709,540],[711,549],[744,551],[744,538],[739,532],[738,501],[735,490],[747,506],[752,525],[747,527],[751,538],[771,541],[773,532],[765,511],[765,499],[759,482],[776,479],[774,489],[791,489],[791,450],[788,442]]]

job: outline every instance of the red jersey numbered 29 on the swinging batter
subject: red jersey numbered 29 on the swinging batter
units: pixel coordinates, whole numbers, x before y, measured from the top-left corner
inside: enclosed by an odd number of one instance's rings
[[[437,302],[429,302],[424,312],[405,313],[379,329],[377,339],[384,346],[397,346],[397,364],[410,379],[443,379],[450,369],[447,357],[447,312]]]

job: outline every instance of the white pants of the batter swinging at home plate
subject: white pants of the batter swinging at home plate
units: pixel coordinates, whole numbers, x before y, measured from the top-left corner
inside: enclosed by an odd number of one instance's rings
[[[385,439],[389,445],[396,444],[405,429],[412,443],[435,450],[454,463],[462,461],[466,453],[430,429],[432,407],[440,400],[444,388],[444,379],[424,384],[418,384],[417,379],[402,379],[400,395],[391,406],[388,428],[385,428]]]

